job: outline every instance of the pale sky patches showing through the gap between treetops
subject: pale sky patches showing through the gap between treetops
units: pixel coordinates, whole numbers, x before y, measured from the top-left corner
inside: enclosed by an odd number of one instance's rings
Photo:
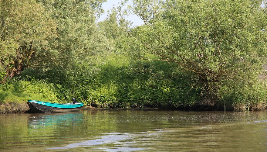
[[[112,7],[114,7],[114,5],[118,6],[120,1],[121,0],[107,0],[107,2],[104,2],[102,4],[102,7],[105,10],[105,13],[100,16],[98,22],[106,19],[106,17],[108,16],[107,10],[110,10]],[[128,4],[132,4],[132,0],[128,0]],[[126,19],[130,22],[133,22],[132,26],[140,26],[144,24],[144,22],[136,15],[129,15]]]

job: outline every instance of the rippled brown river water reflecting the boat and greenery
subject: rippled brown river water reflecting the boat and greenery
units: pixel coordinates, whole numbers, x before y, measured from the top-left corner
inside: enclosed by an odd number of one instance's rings
[[[267,111],[0,115],[0,151],[266,151]]]

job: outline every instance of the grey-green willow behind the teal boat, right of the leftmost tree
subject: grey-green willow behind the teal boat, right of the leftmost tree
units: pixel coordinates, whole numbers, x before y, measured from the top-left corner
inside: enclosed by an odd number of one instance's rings
[[[102,10],[101,5],[97,8],[95,5],[92,7],[93,4],[104,1],[41,0],[40,2],[47,11],[52,12],[51,17],[57,24],[57,37],[49,40],[50,46],[56,53],[50,62],[42,64],[42,69],[34,70],[40,71],[41,78],[49,78],[52,83],[58,83],[75,94],[80,85],[87,82],[90,71],[96,69],[92,67],[92,63],[98,59],[96,55],[109,48],[105,36],[96,26],[96,12]]]

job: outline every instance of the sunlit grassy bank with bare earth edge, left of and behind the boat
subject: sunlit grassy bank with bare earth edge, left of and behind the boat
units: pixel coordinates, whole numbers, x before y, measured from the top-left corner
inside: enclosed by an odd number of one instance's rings
[[[25,88],[25,90],[24,90]],[[45,81],[20,81],[18,78],[0,85],[0,113],[21,113],[29,110],[28,99],[64,102],[57,98],[53,84]]]

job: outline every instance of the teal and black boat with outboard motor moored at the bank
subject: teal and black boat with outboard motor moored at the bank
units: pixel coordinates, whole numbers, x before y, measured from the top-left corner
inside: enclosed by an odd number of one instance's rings
[[[53,113],[53,112],[72,112],[79,111],[83,107],[83,103],[52,103],[36,100],[28,100],[27,104],[33,113]]]

